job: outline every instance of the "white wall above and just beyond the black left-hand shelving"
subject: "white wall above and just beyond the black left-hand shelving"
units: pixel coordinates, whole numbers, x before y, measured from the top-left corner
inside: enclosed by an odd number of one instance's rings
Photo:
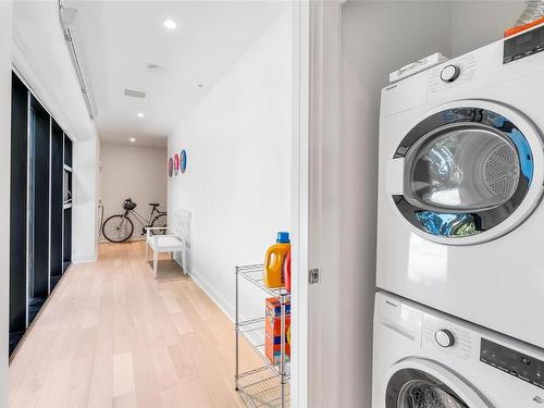
[[[97,133],[59,20],[59,2],[13,5],[13,64],[74,140],[73,261],[96,258]]]

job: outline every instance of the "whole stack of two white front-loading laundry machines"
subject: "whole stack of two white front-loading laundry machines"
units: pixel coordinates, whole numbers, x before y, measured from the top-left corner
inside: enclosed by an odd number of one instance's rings
[[[544,25],[382,91],[373,408],[544,407]]]

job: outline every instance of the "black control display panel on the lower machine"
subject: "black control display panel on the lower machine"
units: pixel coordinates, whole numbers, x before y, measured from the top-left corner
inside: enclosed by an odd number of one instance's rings
[[[480,361],[544,388],[544,362],[536,358],[482,338]]]

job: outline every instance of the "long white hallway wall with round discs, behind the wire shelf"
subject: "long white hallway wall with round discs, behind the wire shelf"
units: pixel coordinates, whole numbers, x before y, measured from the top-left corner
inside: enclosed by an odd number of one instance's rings
[[[231,317],[234,267],[262,262],[290,228],[290,24],[287,11],[169,137],[169,156],[188,157],[169,180],[169,211],[191,211],[190,273]],[[262,294],[244,290],[258,295],[245,313],[262,316]]]

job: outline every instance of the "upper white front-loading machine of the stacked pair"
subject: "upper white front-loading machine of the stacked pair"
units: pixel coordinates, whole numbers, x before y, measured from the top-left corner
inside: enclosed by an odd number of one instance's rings
[[[544,25],[382,91],[376,284],[544,347]]]

